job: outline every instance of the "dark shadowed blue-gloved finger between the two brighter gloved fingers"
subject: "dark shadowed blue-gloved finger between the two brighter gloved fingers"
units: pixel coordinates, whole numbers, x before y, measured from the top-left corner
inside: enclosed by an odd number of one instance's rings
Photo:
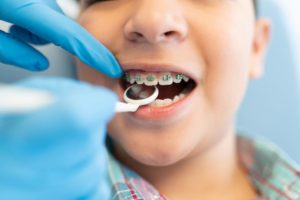
[[[30,31],[16,25],[10,27],[9,33],[25,43],[31,43],[34,45],[45,45],[49,43],[48,41],[34,35]]]

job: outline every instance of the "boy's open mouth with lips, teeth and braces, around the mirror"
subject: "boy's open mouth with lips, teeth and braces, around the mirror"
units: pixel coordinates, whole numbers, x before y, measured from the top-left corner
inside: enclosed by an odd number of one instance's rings
[[[125,70],[120,80],[120,94],[134,84],[156,86],[159,90],[154,102],[141,106],[135,113],[130,113],[134,117],[146,120],[165,120],[173,118],[177,112],[182,113],[197,87],[197,82],[182,72],[158,71],[158,69],[148,71],[136,67]]]

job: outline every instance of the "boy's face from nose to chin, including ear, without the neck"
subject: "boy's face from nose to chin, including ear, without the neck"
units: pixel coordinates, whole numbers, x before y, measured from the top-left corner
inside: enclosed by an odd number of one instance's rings
[[[163,79],[171,72],[173,79],[180,79],[177,74],[190,78],[159,86],[159,98],[181,96],[176,103],[167,100],[170,105],[160,102],[137,113],[118,114],[108,127],[117,147],[151,166],[199,155],[234,131],[248,80],[260,75],[269,27],[255,20],[251,0],[82,2],[78,21],[130,76],[142,72],[142,78]],[[79,61],[78,75],[111,88],[122,99],[122,81]],[[179,95],[188,85],[192,89]]]

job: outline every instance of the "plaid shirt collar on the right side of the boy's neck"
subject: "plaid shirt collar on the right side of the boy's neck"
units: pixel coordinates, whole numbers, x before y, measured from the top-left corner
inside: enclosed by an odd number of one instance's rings
[[[300,167],[263,138],[240,136],[241,164],[253,185],[267,199],[300,199]]]

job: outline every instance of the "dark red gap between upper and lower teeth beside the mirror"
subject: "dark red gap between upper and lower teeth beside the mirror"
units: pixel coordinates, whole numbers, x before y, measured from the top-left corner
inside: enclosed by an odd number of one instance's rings
[[[179,95],[184,87],[181,84],[172,85],[158,85],[159,90],[158,99],[173,99],[176,95]]]

